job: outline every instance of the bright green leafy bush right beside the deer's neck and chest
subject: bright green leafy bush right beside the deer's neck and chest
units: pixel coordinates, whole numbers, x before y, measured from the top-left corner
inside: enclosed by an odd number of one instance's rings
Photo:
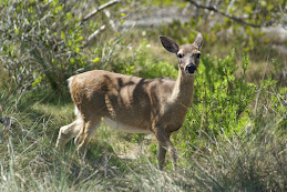
[[[183,131],[175,135],[176,141],[189,142],[181,142],[180,148],[202,148],[204,143],[196,143],[197,139],[207,135],[221,138],[224,134],[229,140],[234,135],[246,137],[249,131],[247,129],[257,122],[253,107],[258,102],[260,92],[266,92],[276,84],[276,81],[270,78],[262,81],[259,85],[247,82],[245,73],[249,65],[248,55],[244,54],[242,69],[239,69],[234,50],[225,59],[202,57],[194,85],[193,105],[186,117]],[[242,74],[236,78],[235,72],[238,70]],[[277,98],[275,103],[276,107],[270,108],[274,111],[280,111],[279,117],[281,117],[284,114],[281,99]],[[193,153],[193,150],[191,152]],[[191,155],[191,153],[185,153],[185,155]]]

